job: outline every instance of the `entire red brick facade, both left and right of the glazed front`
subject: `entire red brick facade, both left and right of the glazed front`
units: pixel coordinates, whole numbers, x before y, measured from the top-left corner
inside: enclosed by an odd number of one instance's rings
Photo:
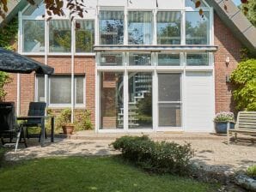
[[[231,86],[226,82],[226,76],[236,68],[240,59],[241,43],[235,39],[231,30],[226,27],[218,15],[214,18],[214,44],[218,45],[215,53],[215,97],[216,112],[234,111],[234,104],[231,99]],[[226,65],[226,58],[229,57],[229,65]],[[45,58],[33,56],[40,63],[45,63]],[[70,56],[49,56],[48,62],[55,69],[55,74],[71,73]],[[75,74],[86,75],[86,108],[92,112],[92,123],[95,124],[95,58],[94,56],[76,56],[74,59]],[[13,81],[6,86],[6,101],[15,101],[17,98],[17,75],[11,75]],[[111,85],[112,84],[112,85]],[[105,81],[104,87],[115,86],[114,81]],[[35,77],[21,75],[21,115],[27,114],[29,102],[34,101]],[[115,120],[105,117],[103,121],[110,122],[109,127],[113,127]]]

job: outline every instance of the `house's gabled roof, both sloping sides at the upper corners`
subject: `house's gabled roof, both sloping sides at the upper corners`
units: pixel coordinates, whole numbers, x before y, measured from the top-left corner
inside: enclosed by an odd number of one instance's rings
[[[256,28],[247,17],[243,15],[240,9],[235,6],[232,1],[226,0],[205,0],[210,7],[216,11],[216,14],[235,34],[235,37],[241,41],[243,45],[256,55]],[[9,13],[6,21],[9,22],[20,10],[27,5],[27,0],[8,1]],[[228,10],[224,9],[224,3],[227,4]],[[0,26],[3,20],[0,18]]]

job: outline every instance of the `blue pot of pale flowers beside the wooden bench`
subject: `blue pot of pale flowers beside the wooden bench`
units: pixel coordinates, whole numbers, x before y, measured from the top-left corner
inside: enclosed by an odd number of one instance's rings
[[[222,111],[216,114],[214,118],[215,130],[217,134],[227,134],[228,123],[230,123],[230,129],[235,128],[234,113]]]

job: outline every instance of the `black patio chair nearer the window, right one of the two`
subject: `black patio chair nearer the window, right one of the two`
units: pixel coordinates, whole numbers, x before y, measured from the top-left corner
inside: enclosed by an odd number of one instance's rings
[[[27,116],[45,116],[46,112],[46,103],[45,102],[30,102]],[[41,128],[41,118],[28,119],[26,123],[22,123],[24,129],[26,129],[27,139],[29,138],[41,138],[40,134],[29,134],[29,129]],[[46,135],[46,132],[45,132]],[[46,136],[47,138],[47,136]]]

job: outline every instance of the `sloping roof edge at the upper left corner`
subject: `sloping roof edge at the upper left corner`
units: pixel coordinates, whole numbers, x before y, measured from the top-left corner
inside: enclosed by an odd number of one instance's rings
[[[7,1],[8,13],[4,21],[9,22],[11,19],[18,14],[18,12],[24,9],[27,5],[27,0],[15,0]],[[0,26],[3,23],[3,18],[0,17]]]

